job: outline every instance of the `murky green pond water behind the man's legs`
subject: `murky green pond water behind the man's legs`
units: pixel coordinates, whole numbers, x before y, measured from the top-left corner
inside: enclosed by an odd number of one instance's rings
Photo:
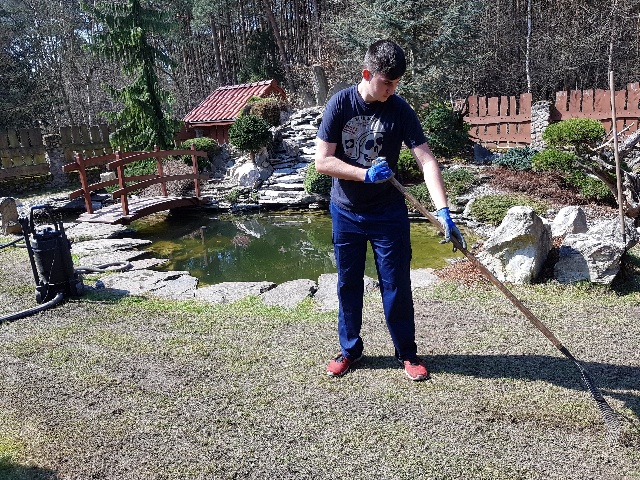
[[[328,212],[267,212],[246,215],[183,210],[132,224],[136,237],[152,240],[147,250],[168,258],[162,270],[187,270],[202,285],[220,282],[317,280],[336,271]],[[412,268],[439,268],[452,253],[438,243],[427,222],[411,224]],[[376,278],[371,248],[366,274]]]

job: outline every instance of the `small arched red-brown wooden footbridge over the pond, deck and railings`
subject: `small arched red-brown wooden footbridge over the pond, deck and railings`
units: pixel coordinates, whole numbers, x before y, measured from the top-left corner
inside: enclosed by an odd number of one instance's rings
[[[192,173],[180,175],[165,175],[162,167],[162,159],[174,155],[191,155]],[[75,154],[75,161],[63,167],[65,172],[77,171],[80,176],[81,188],[69,194],[70,199],[84,197],[87,211],[78,217],[81,222],[97,223],[122,223],[129,224],[132,221],[151,215],[152,213],[172,210],[180,207],[198,206],[203,203],[200,197],[200,180],[206,180],[208,175],[198,173],[198,157],[206,157],[206,152],[195,150],[154,150],[153,152],[115,152],[108,155],[84,158],[81,153]],[[125,166],[129,163],[154,158],[157,171],[151,175],[125,176]],[[115,170],[116,178],[90,184],[87,179],[87,169],[106,165],[108,170]],[[175,197],[167,194],[167,182],[192,180],[195,196]],[[133,191],[144,189],[152,185],[160,185],[162,195],[153,197],[130,198]],[[103,188],[118,185],[111,196],[119,203],[93,210],[91,193]]]

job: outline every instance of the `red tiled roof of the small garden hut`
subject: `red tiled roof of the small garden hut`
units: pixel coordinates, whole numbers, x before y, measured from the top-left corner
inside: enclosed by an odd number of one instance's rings
[[[247,100],[251,97],[266,97],[271,93],[285,96],[275,80],[219,87],[187,113],[184,122],[230,124],[238,117]]]

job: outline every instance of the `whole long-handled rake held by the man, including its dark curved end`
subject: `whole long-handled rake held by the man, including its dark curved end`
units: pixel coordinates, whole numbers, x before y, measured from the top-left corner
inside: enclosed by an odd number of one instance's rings
[[[391,177],[389,181],[404,195],[404,197],[411,202],[411,204],[422,214],[424,217],[429,220],[441,233],[443,232],[442,225],[437,220],[437,218],[429,212],[424,205],[422,205],[395,177]],[[567,350],[567,348],[562,345],[560,340],[556,338],[556,336],[551,333],[551,331],[529,310],[520,300],[518,300],[513,293],[502,283],[500,280],[496,278],[496,276],[491,273],[491,271],[485,267],[469,250],[464,248],[460,242],[451,237],[451,242],[457,250],[460,250],[462,254],[469,259],[469,261],[476,267],[480,273],[482,273],[493,285],[498,287],[498,289],[513,303],[518,310],[520,310],[527,319],[533,323],[533,325],[542,332],[542,334],[547,337],[547,339],[558,349],[560,352],[571,360],[575,366],[580,371],[580,376],[582,378],[582,382],[586,386],[587,390],[591,394],[591,397],[596,402],[598,409],[602,415],[602,419],[604,420],[605,425],[607,426],[608,438],[611,442],[616,442],[620,435],[620,420],[618,418],[618,414],[611,408],[611,406],[607,403],[607,401],[596,387],[593,379],[589,376],[584,366]]]

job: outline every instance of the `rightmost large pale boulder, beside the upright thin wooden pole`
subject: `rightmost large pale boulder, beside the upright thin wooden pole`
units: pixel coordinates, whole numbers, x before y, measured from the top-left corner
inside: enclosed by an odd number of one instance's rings
[[[554,276],[561,283],[589,280],[609,284],[620,271],[624,252],[638,243],[638,232],[625,219],[626,244],[622,241],[620,219],[598,223],[586,233],[567,235],[560,246]]]

